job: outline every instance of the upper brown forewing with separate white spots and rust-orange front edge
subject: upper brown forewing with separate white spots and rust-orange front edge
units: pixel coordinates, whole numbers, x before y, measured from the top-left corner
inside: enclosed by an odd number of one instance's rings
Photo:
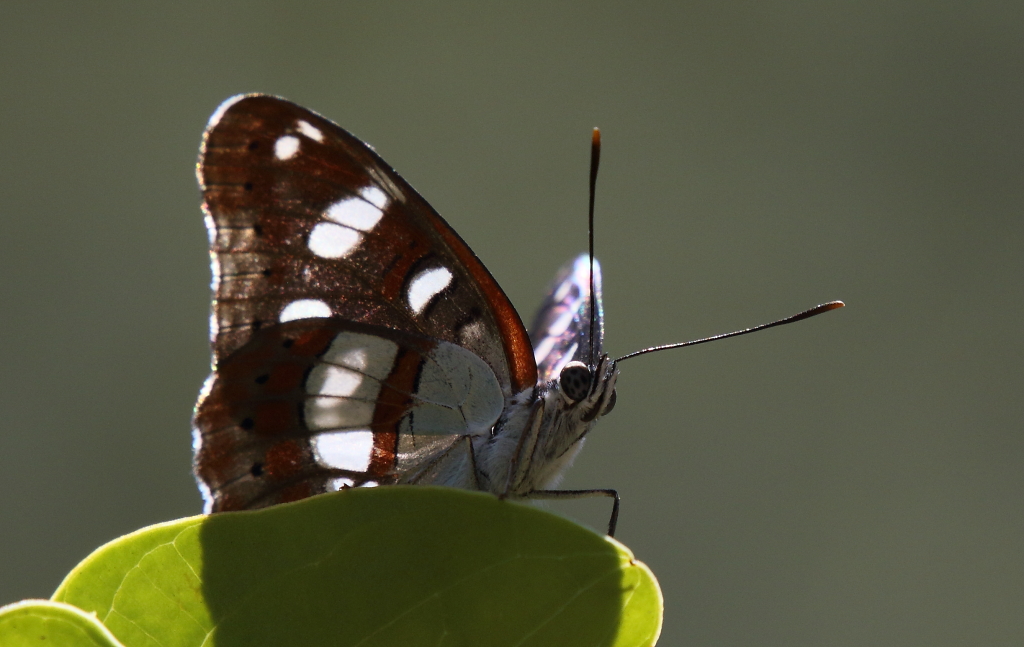
[[[532,387],[525,329],[459,235],[365,143],[281,98],[211,117],[198,167],[213,264],[214,365],[261,328],[337,316],[439,339]]]

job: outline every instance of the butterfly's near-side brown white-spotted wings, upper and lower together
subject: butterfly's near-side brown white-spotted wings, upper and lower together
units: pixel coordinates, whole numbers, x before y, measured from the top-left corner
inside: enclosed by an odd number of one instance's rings
[[[214,373],[194,425],[208,511],[393,482],[536,385],[525,328],[482,263],[337,125],[276,97],[228,99],[197,174],[213,267]],[[321,376],[347,371],[324,363],[325,340],[353,335],[376,373]],[[319,354],[292,356],[303,336]],[[332,391],[355,382],[372,395]]]

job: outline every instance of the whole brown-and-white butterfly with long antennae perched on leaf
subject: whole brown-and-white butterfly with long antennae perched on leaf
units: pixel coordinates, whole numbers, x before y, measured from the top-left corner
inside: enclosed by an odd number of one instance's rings
[[[591,158],[591,219],[599,136]],[[600,265],[557,274],[527,334],[458,233],[369,145],[282,98],[227,99],[197,167],[210,238],[213,372],[193,419],[205,511],[349,487],[555,489],[615,404]]]

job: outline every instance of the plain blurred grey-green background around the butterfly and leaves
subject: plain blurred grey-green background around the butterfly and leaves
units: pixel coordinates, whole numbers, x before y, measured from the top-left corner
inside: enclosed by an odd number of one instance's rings
[[[196,514],[194,177],[227,96],[376,146],[527,321],[586,245],[663,645],[1024,643],[1024,5],[0,5],[0,603]],[[600,527],[605,502],[556,509]]]

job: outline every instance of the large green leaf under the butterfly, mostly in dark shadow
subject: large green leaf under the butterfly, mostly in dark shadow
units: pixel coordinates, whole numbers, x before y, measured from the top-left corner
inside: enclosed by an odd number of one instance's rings
[[[561,517],[443,487],[356,488],[144,528],[54,600],[128,647],[652,645],[654,576]]]

